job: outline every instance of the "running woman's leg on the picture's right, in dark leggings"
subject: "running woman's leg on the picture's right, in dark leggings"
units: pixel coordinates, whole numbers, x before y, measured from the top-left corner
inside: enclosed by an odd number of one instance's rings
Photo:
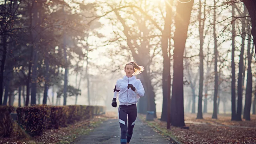
[[[131,105],[129,107],[129,113],[128,113],[128,132],[126,134],[127,136],[127,143],[130,142],[132,135],[133,135],[133,128],[135,125],[135,120],[137,118],[137,106],[136,105]]]

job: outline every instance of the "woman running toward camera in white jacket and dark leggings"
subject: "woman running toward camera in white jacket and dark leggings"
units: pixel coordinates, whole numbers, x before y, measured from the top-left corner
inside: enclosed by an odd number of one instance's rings
[[[142,73],[143,70],[143,66],[137,65],[133,61],[129,62],[124,67],[126,76],[116,81],[114,98],[111,105],[116,107],[116,98],[119,96],[118,117],[121,128],[121,144],[129,144],[133,135],[133,128],[137,118],[136,103],[145,93],[141,81],[136,79],[135,75]]]

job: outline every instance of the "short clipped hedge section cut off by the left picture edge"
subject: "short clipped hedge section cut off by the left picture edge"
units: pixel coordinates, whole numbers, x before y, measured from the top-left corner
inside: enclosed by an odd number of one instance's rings
[[[12,133],[13,125],[10,114],[13,111],[13,106],[0,106],[0,136],[2,137],[7,137]]]

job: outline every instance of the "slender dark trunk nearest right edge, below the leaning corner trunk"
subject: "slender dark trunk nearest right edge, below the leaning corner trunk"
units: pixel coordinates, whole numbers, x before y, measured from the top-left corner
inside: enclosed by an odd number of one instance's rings
[[[250,30],[248,33],[248,44],[247,44],[247,57],[248,57],[248,69],[247,69],[247,83],[246,83],[246,92],[245,92],[245,104],[244,104],[244,113],[243,118],[246,120],[250,120],[250,112],[251,112],[251,98],[252,98],[252,72],[251,72],[251,61],[252,61],[252,53],[251,50],[251,34]]]

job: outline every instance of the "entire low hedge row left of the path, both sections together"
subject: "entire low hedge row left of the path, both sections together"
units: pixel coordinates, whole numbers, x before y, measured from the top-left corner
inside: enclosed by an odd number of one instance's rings
[[[13,130],[10,113],[14,107],[0,106],[0,136],[9,136]],[[17,122],[31,136],[41,135],[45,129],[58,129],[79,120],[92,118],[105,111],[103,106],[47,106],[18,107]]]

